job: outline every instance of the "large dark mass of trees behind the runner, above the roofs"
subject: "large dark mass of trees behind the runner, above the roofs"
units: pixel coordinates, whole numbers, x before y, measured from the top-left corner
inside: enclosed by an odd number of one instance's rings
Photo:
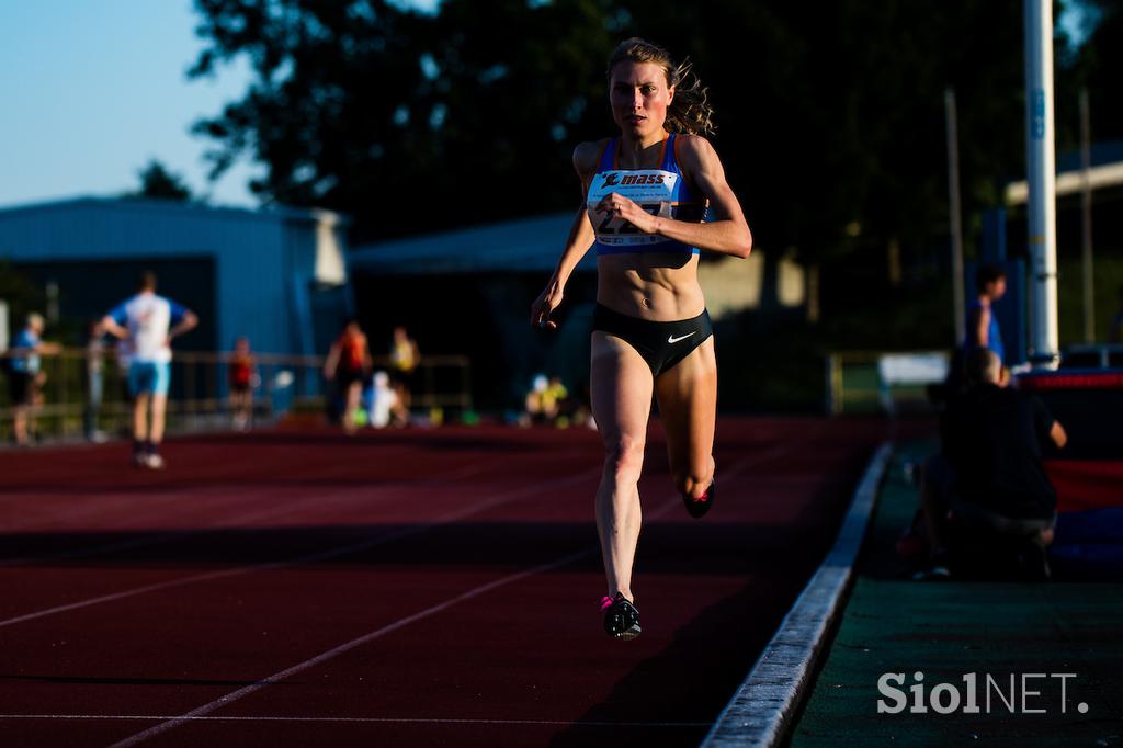
[[[715,145],[764,246],[930,244],[947,225],[947,86],[968,211],[1023,172],[1019,2],[195,4],[191,74],[241,55],[255,71],[195,125],[214,173],[249,156],[267,167],[263,201],[347,212],[357,241],[575,207],[572,149],[612,134],[604,60],[633,34],[711,86]]]

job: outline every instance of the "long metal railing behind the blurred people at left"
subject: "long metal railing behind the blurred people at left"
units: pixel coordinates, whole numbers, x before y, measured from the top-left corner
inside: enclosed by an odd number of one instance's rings
[[[0,354],[0,358],[12,358]],[[232,352],[176,352],[167,399],[167,430],[172,432],[229,428],[229,372]],[[327,412],[338,396],[323,377],[322,356],[254,354],[255,423],[272,423],[290,414]],[[7,378],[7,367],[2,367]],[[389,371],[389,357],[375,357],[374,368]],[[39,438],[100,439],[128,434],[131,404],[128,373],[112,350],[64,348],[42,355],[35,403],[28,417]],[[465,356],[423,356],[414,375],[412,409],[472,410],[472,367]],[[10,387],[0,387],[0,439],[12,438],[16,409]]]

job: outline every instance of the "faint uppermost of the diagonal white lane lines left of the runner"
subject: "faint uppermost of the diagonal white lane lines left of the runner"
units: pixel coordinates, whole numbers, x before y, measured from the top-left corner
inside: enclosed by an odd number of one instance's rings
[[[43,556],[21,556],[17,558],[8,558],[0,560],[0,568],[7,566],[31,566],[36,564],[49,564],[60,560],[67,560],[71,558],[88,558],[97,556],[99,554],[112,553],[117,550],[127,550],[130,548],[144,548],[147,546],[162,545],[164,542],[174,542],[182,540],[184,538],[190,538],[197,535],[203,535],[206,532],[211,532],[217,529],[244,529],[247,532],[267,532],[270,530],[275,530],[276,528],[238,528],[239,523],[255,522],[263,519],[276,519],[279,517],[284,517],[286,514],[295,514],[303,511],[309,504],[314,504],[317,507],[335,505],[339,503],[346,503],[354,501],[356,499],[363,499],[372,504],[378,502],[385,502],[394,499],[393,494],[390,495],[376,495],[377,493],[384,491],[393,491],[401,489],[402,486],[429,486],[432,484],[446,483],[449,481],[458,481],[471,475],[483,472],[484,468],[476,466],[467,466],[454,473],[450,473],[442,477],[428,478],[421,482],[412,481],[395,481],[392,483],[385,483],[378,486],[355,486],[348,489],[345,492],[336,492],[334,495],[328,498],[325,496],[310,496],[307,499],[299,499],[295,502],[286,503],[283,507],[274,507],[266,510],[259,510],[256,512],[249,512],[244,514],[237,514],[231,518],[222,518],[210,524],[204,524],[201,528],[194,528],[190,530],[168,530],[166,532],[159,532],[156,535],[146,535],[145,537],[137,538],[135,540],[120,540],[118,542],[109,542],[100,546],[89,546],[85,548],[75,548],[73,550],[63,550],[56,554],[47,554]],[[253,495],[265,494],[273,491],[271,487],[259,489],[254,492]],[[182,496],[180,496],[182,498]],[[192,508],[195,509],[195,508]],[[173,512],[174,514],[175,512]],[[166,518],[166,514],[162,516]],[[107,532],[113,532],[112,530],[107,530]],[[121,532],[129,532],[124,530]]]

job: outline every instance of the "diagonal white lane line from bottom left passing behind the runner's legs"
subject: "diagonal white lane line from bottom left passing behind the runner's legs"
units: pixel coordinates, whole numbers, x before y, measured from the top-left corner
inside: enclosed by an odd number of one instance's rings
[[[749,465],[752,465],[755,463],[760,463],[760,462],[764,462],[764,460],[767,460],[767,459],[772,459],[773,457],[777,457],[779,455],[786,454],[787,451],[791,451],[791,449],[792,449],[792,447],[789,447],[789,446],[779,446],[779,447],[774,447],[773,449],[769,449],[769,450],[765,450],[764,453],[759,453],[757,455],[750,455],[748,457],[743,457],[742,459],[739,459],[733,465],[733,467],[731,467],[730,469],[728,469],[728,471],[725,471],[723,473],[723,476],[724,476],[723,480],[732,480],[742,469],[745,469]],[[597,473],[600,473],[600,472],[601,471],[599,468]],[[657,510],[655,510],[654,512],[651,512],[649,514],[650,519],[655,519],[657,517],[661,517],[663,514],[665,514],[668,511],[670,511],[670,509],[673,507],[677,505],[681,501],[682,501],[682,496],[679,496],[677,494],[674,494],[670,500],[664,502],[661,507],[659,507]],[[192,719],[195,719],[195,718],[206,717],[206,715],[210,714],[210,712],[213,712],[217,709],[221,709],[222,706],[227,706],[229,704],[232,704],[235,701],[238,701],[239,699],[244,699],[245,696],[248,696],[248,695],[250,695],[253,693],[256,693],[257,691],[261,691],[262,688],[264,688],[267,685],[273,685],[275,683],[280,683],[281,681],[284,681],[284,679],[289,678],[289,677],[292,677],[293,675],[296,675],[298,673],[301,673],[302,671],[305,671],[305,669],[308,669],[310,667],[314,667],[314,666],[320,665],[322,663],[326,663],[326,662],[328,662],[330,659],[334,659],[334,658],[338,657],[339,655],[343,655],[343,654],[345,654],[345,653],[354,649],[355,647],[359,647],[362,645],[365,645],[368,641],[377,639],[377,638],[380,638],[382,636],[385,636],[385,635],[387,635],[387,633],[390,633],[392,631],[396,631],[398,629],[404,628],[404,627],[409,626],[410,623],[413,623],[413,622],[419,621],[421,619],[424,619],[424,618],[428,618],[428,617],[433,615],[436,613],[439,613],[441,611],[445,611],[445,610],[451,608],[453,605],[456,605],[457,603],[464,602],[465,600],[471,600],[472,598],[477,598],[477,596],[480,596],[482,594],[485,594],[485,593],[491,592],[493,590],[496,590],[499,587],[505,586],[508,584],[512,584],[514,582],[524,580],[524,578],[527,578],[529,576],[533,576],[536,574],[541,574],[544,572],[549,572],[549,571],[553,571],[555,568],[559,568],[562,566],[566,566],[566,565],[572,564],[573,562],[578,560],[581,558],[584,558],[586,556],[593,556],[593,555],[597,554],[599,551],[600,551],[600,546],[590,546],[588,548],[579,550],[579,551],[577,551],[575,554],[570,554],[568,556],[565,556],[564,558],[559,558],[557,560],[549,562],[547,564],[542,564],[540,566],[536,566],[533,568],[526,569],[526,571],[519,572],[517,574],[511,574],[511,575],[504,576],[504,577],[502,577],[500,580],[495,580],[493,582],[489,582],[487,584],[483,584],[483,585],[473,587],[472,590],[468,590],[467,592],[464,592],[464,593],[462,593],[462,594],[459,594],[459,595],[457,595],[455,598],[450,598],[449,600],[447,600],[447,601],[445,601],[442,603],[438,603],[437,605],[433,605],[431,608],[427,608],[426,610],[423,610],[423,611],[421,611],[419,613],[414,613],[413,615],[409,615],[407,618],[399,619],[399,620],[394,621],[393,623],[390,623],[387,626],[382,627],[381,629],[377,629],[375,631],[366,633],[366,635],[364,635],[362,637],[358,637],[357,639],[351,639],[350,641],[348,641],[346,644],[343,644],[343,645],[339,645],[338,647],[336,647],[334,649],[329,649],[329,650],[327,650],[325,653],[321,653],[321,654],[317,655],[316,657],[312,657],[310,659],[305,659],[302,663],[298,663],[296,665],[293,665],[292,667],[290,667],[287,669],[281,671],[280,673],[275,673],[275,674],[273,674],[273,675],[271,675],[271,676],[268,676],[266,678],[257,681],[256,683],[253,683],[253,684],[250,684],[248,686],[239,688],[238,691],[228,693],[225,696],[220,696],[219,699],[216,699],[214,701],[212,701],[212,702],[210,702],[208,704],[203,704],[202,706],[199,706],[198,709],[194,709],[194,710],[188,712],[186,714],[182,714],[180,717],[175,717],[175,718],[168,719],[168,720],[166,720],[166,721],[164,721],[164,722],[162,722],[159,724],[156,724],[156,726],[154,726],[154,727],[152,727],[152,728],[149,728],[147,730],[144,730],[143,732],[138,732],[138,733],[136,733],[136,735],[134,735],[134,736],[131,736],[129,738],[126,738],[125,740],[116,742],[112,746],[110,746],[110,748],[127,748],[128,746],[135,746],[135,745],[138,745],[140,742],[144,742],[145,740],[148,740],[149,738],[155,738],[156,736],[163,735],[164,732],[167,732],[168,730],[172,730],[172,729],[179,727],[180,724],[183,724],[184,722],[188,722],[188,721],[190,721]],[[569,722],[566,722],[566,724],[569,724]]]

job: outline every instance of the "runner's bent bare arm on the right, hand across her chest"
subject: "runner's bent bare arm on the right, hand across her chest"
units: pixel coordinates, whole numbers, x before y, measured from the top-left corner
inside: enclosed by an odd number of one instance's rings
[[[678,136],[678,167],[710,199],[715,220],[705,224],[651,216],[631,200],[620,194],[605,198],[621,218],[645,234],[658,234],[668,239],[734,257],[748,257],[752,250],[752,234],[745,220],[741,203],[725,181],[725,170],[718,153],[703,137]]]

